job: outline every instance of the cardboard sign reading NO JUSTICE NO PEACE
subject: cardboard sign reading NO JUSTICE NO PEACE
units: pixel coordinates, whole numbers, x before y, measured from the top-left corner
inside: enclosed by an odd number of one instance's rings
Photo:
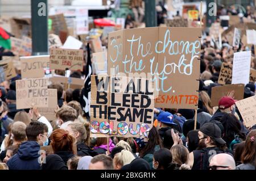
[[[47,78],[30,78],[16,80],[17,110],[36,107],[48,107],[49,96],[54,91],[48,90]]]

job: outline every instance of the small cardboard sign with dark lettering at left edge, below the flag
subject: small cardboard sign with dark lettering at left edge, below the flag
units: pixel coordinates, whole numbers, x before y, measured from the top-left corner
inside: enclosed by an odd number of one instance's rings
[[[2,68],[2,70],[0,71],[1,73],[1,81],[7,81],[10,80],[11,78],[16,77],[16,71],[13,65],[13,61],[7,59],[7,60],[1,60],[0,61],[0,68]]]

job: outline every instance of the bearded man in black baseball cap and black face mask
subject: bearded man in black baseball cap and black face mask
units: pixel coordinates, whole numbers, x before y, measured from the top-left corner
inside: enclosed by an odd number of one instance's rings
[[[188,165],[192,170],[208,170],[210,159],[226,150],[226,142],[221,138],[221,130],[214,123],[205,123],[199,129],[199,148],[189,154]]]

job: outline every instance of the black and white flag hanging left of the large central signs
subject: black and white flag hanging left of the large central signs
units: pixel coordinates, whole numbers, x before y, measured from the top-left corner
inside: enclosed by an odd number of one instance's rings
[[[85,116],[90,116],[90,75],[92,75],[92,61],[90,61],[90,47],[87,44],[87,64],[85,68],[85,80],[84,88],[81,91],[81,106],[82,110],[85,112]]]

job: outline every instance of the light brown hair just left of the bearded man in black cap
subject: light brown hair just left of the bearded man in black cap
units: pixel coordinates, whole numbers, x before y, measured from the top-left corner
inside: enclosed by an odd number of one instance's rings
[[[189,152],[183,145],[175,145],[171,148],[172,162],[183,165],[188,162]]]

